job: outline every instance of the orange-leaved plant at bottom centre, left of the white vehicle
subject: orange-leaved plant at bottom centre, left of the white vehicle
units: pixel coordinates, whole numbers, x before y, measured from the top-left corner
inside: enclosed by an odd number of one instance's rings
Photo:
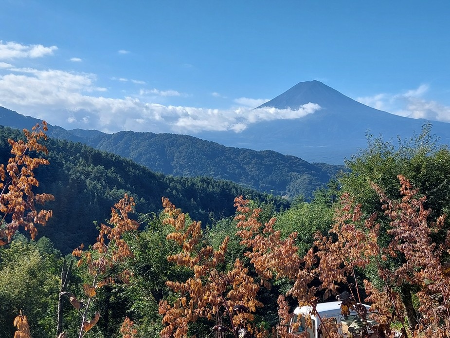
[[[256,300],[259,290],[257,283],[248,275],[248,269],[236,260],[233,269],[223,271],[228,248],[228,236],[217,250],[203,242],[203,232],[199,222],[186,225],[184,213],[177,209],[167,198],[162,199],[167,217],[164,224],[173,225],[175,231],[167,236],[180,245],[180,252],[169,256],[170,262],[192,269],[193,278],[185,282],[168,281],[166,285],[180,297],[173,304],[166,300],[160,302],[159,313],[166,326],[161,337],[186,337],[188,324],[206,317],[209,320],[221,315],[221,311],[230,318],[230,331],[251,321],[257,306],[263,306]],[[233,312],[236,305],[245,306],[249,312]]]

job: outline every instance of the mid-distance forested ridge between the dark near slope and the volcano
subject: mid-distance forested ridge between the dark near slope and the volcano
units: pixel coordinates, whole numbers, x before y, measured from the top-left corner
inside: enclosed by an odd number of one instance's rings
[[[0,107],[0,124],[29,128],[36,122],[40,121]],[[95,130],[66,131],[58,126],[50,126],[49,135],[113,152],[164,174],[231,180],[287,197],[310,197],[343,169],[311,164],[271,150],[225,147],[188,135],[133,131],[107,134]]]

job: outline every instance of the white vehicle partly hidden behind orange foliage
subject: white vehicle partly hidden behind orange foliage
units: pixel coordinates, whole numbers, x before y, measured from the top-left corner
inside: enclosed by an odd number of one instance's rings
[[[375,320],[370,319],[370,315],[373,314],[373,312],[368,312],[370,305],[362,304],[367,309],[367,320],[366,323],[363,323],[362,319],[355,311],[351,311],[350,315],[348,316],[342,316],[341,303],[341,301],[331,301],[316,305],[316,310],[320,318],[326,319],[327,323],[329,322],[329,324],[327,324],[327,327],[334,327],[335,329],[337,329],[337,332],[343,337],[353,337],[354,334],[356,337],[358,337],[356,333],[358,331],[358,328],[360,328],[362,324],[366,325],[367,332],[369,333],[369,335],[371,335],[371,337],[376,337],[376,335],[373,334],[373,331],[370,329],[373,325],[377,324]],[[289,325],[289,332],[296,335],[300,335],[306,332],[306,338],[320,338],[319,326],[321,321],[312,311],[313,309],[311,306],[297,307],[292,314]],[[308,316],[311,319],[309,325],[306,324],[306,318]],[[298,326],[294,325],[296,323],[298,323]]]

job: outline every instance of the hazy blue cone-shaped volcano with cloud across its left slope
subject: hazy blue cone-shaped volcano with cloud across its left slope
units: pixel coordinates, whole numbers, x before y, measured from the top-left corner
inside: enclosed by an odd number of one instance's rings
[[[225,146],[274,150],[309,162],[342,164],[367,144],[366,134],[384,140],[410,139],[426,122],[444,144],[450,143],[450,124],[412,119],[363,105],[319,81],[300,82],[260,107],[298,109],[307,103],[321,109],[298,119],[261,121],[235,133],[202,132],[196,136]],[[258,107],[258,108],[260,108]]]

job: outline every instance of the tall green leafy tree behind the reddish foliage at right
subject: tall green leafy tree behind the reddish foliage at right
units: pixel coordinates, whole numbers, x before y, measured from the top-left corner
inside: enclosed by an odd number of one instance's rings
[[[361,205],[360,210],[364,218],[372,217],[375,212],[379,216],[380,226],[387,230],[391,220],[384,215],[383,203],[380,201],[378,191],[373,184],[383,191],[387,198],[398,200],[402,196],[398,189],[397,175],[406,177],[411,184],[427,196],[423,205],[430,208],[432,219],[448,213],[450,206],[450,151],[445,146],[438,147],[431,134],[430,125],[425,125],[421,134],[409,141],[400,141],[398,146],[381,138],[369,138],[368,147],[355,155],[347,166],[351,169],[340,179],[342,192],[353,196],[355,203]],[[432,239],[437,244],[443,244],[446,239],[446,231],[449,229],[447,219],[442,230],[432,234]],[[386,231],[381,231],[379,244],[386,246],[391,236]],[[390,257],[386,265],[399,266],[405,261],[404,255]],[[377,268],[368,267],[366,277],[376,285],[383,285],[379,280]],[[417,287],[405,281],[396,285],[396,291],[401,297],[406,309],[409,324],[417,324],[416,309],[413,304],[413,296],[418,291]]]

